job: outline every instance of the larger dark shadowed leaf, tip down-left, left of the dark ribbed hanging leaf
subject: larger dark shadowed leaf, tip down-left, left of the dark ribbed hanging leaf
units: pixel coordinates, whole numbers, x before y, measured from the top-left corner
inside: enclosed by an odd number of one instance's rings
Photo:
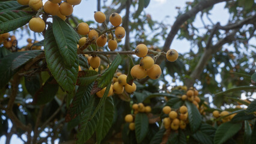
[[[35,93],[32,104],[41,105],[52,101],[59,89],[58,83],[53,77],[50,77],[46,83]]]

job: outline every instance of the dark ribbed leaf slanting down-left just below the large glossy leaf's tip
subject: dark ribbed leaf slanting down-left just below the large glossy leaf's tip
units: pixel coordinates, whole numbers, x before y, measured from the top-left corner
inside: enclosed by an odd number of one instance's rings
[[[69,106],[69,110],[67,111],[66,122],[76,118],[76,116],[80,115],[80,113],[85,110],[91,98],[90,92],[92,88],[93,84],[88,86],[79,86],[78,91]]]

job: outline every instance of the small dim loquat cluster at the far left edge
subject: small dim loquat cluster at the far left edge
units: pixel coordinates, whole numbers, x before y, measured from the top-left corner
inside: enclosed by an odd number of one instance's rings
[[[12,46],[17,46],[17,40],[15,35],[10,35],[8,32],[0,34],[0,45],[4,44],[4,47],[10,49]]]

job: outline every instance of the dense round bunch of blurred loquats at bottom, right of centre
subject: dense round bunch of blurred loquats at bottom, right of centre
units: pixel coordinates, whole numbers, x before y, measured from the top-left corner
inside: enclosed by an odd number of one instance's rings
[[[163,126],[165,129],[171,128],[171,130],[185,129],[186,124],[188,124],[188,113],[187,107],[181,106],[177,110],[171,110],[171,107],[165,106],[163,107],[163,113],[168,115],[169,117],[163,118]]]

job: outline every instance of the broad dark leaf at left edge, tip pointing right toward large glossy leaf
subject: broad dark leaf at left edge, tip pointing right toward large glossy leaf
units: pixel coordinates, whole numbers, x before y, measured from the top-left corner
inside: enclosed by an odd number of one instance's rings
[[[1,67],[0,68],[0,89],[4,87],[5,84],[11,79],[11,77],[13,77],[13,75],[19,70],[19,68],[29,60],[29,59],[20,59],[19,62],[17,62],[17,59],[23,58],[26,55],[31,56],[31,53],[34,53],[34,52],[32,52],[32,50],[25,51],[25,52],[14,52],[0,59],[0,67]],[[16,65],[16,66],[13,68],[13,65]]]

